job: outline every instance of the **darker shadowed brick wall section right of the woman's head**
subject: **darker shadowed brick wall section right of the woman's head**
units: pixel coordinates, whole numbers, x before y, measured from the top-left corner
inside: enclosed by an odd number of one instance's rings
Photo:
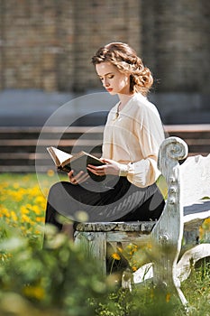
[[[160,79],[159,90],[209,92],[210,3],[149,0],[143,10],[142,54]]]

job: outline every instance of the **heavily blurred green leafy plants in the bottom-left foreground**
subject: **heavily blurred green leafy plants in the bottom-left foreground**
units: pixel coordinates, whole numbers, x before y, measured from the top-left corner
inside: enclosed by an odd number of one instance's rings
[[[114,284],[97,271],[96,262],[53,227],[46,230],[43,249],[34,247],[30,239],[3,222],[1,232],[1,315],[28,316],[32,315],[32,308],[34,315],[40,311],[44,315],[49,312],[58,316],[92,316],[94,311],[88,299],[103,302]]]

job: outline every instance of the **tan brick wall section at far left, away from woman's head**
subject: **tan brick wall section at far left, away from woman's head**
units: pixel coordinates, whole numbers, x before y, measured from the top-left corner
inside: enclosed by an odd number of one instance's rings
[[[1,0],[1,88],[67,89],[73,74],[69,0]]]

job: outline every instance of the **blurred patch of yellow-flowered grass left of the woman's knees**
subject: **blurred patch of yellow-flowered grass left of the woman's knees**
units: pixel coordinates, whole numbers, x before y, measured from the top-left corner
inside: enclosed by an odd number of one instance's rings
[[[0,217],[10,227],[21,230],[25,237],[41,243],[44,222],[45,196],[49,190],[50,176],[45,176],[41,188],[36,174],[0,174]]]

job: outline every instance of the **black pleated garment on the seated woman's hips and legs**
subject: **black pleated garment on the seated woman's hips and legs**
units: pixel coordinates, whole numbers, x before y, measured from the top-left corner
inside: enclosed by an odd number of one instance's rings
[[[139,188],[125,177],[103,182],[89,179],[81,185],[60,181],[50,188],[45,222],[61,230],[59,214],[78,222],[81,212],[89,222],[155,220],[164,205],[156,183]]]

